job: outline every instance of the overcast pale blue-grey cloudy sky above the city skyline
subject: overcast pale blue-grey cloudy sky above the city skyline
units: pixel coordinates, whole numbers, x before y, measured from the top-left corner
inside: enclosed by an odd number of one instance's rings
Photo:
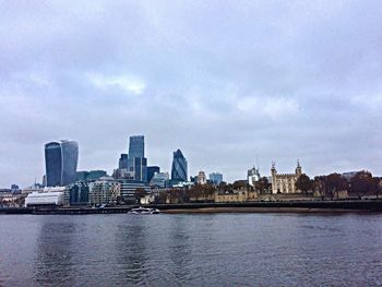
[[[381,1],[2,1],[0,187],[41,181],[44,144],[109,174],[382,175]]]

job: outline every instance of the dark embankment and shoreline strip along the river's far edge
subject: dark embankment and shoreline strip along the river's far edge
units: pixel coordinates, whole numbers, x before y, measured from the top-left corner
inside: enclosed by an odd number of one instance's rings
[[[148,204],[162,213],[381,213],[382,200],[358,201],[288,201],[288,202],[243,202],[243,203],[182,203]],[[70,207],[21,207],[0,208],[0,214],[117,214],[128,213],[136,205],[94,208],[87,206]]]

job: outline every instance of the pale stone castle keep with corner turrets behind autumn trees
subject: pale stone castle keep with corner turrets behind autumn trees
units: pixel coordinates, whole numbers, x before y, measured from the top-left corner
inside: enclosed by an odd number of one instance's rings
[[[300,193],[296,189],[296,181],[302,175],[300,163],[297,160],[295,174],[277,174],[275,163],[272,163],[272,193]]]

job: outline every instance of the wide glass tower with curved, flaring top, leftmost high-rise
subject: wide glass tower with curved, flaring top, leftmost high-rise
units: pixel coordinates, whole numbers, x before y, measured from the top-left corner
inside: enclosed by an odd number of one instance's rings
[[[79,144],[74,141],[51,142],[45,145],[47,187],[68,186],[76,179]]]

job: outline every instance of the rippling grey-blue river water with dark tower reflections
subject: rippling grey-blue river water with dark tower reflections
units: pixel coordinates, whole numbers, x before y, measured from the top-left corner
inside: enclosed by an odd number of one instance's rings
[[[0,286],[381,286],[382,215],[2,215]]]

